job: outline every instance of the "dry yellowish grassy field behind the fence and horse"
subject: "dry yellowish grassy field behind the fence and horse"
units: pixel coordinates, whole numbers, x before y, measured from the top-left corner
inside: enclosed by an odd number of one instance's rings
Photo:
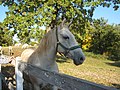
[[[8,48],[4,53],[8,54]],[[14,47],[14,56],[19,56],[23,49]],[[72,75],[98,84],[120,88],[120,62],[107,60],[102,55],[85,53],[86,60],[82,65],[75,66],[72,60],[58,60],[60,73]]]

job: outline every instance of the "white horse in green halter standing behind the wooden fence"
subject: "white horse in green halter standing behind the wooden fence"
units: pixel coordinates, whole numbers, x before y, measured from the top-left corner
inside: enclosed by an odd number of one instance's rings
[[[53,30],[50,30],[41,40],[36,50],[26,49],[21,54],[23,61],[49,71],[59,72],[56,63],[56,53],[62,53],[71,58],[75,65],[84,62],[85,56],[75,40],[74,35],[69,31],[68,25],[64,21]],[[41,90],[39,85],[41,81],[30,77],[34,90]],[[53,90],[57,90],[53,87]]]

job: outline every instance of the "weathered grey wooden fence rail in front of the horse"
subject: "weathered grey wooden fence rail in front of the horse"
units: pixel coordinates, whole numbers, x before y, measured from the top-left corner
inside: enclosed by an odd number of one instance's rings
[[[21,64],[25,65],[25,63]],[[61,88],[62,90],[117,90],[112,87],[103,86],[65,74],[50,72],[29,64],[24,70],[24,73],[36,77],[37,80],[42,79],[49,84]]]

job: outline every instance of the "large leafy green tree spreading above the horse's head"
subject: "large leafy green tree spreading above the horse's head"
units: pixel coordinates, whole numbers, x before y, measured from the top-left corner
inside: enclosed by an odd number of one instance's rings
[[[63,18],[68,22],[73,19],[72,29],[84,36],[85,23],[92,19],[94,9],[99,5],[109,7],[111,3],[114,3],[115,10],[119,8],[120,2],[116,0],[2,0],[1,4],[9,9],[3,24],[14,30],[24,43],[33,38],[34,25],[54,27]]]

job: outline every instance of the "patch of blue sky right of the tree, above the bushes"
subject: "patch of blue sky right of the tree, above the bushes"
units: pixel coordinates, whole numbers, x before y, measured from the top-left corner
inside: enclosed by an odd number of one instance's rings
[[[113,7],[97,7],[94,11],[93,18],[98,19],[104,17],[109,24],[120,24],[120,8],[114,11]]]

